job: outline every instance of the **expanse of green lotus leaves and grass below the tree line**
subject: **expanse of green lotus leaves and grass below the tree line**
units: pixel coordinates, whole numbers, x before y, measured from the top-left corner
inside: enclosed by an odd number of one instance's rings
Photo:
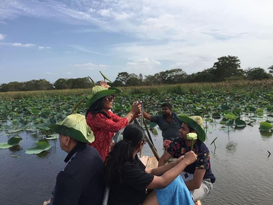
[[[218,124],[220,129],[228,132],[260,125],[260,132],[270,135],[273,122],[272,81],[129,87],[122,95],[116,96],[113,112],[124,116],[130,111],[133,101],[143,100],[144,110],[156,115],[161,114],[161,104],[168,101],[174,107],[173,112],[181,116],[202,116],[205,131],[209,130],[209,124]],[[77,112],[85,115],[89,93],[91,89],[1,93],[0,131],[8,138],[12,135],[12,140],[0,144],[0,148],[4,144],[16,146],[23,131],[36,136],[37,141],[40,139],[37,147],[27,149],[26,153],[50,149],[48,140],[55,140],[58,134],[52,133],[49,126],[63,120],[73,111],[73,105],[81,100],[83,103]],[[147,125],[150,129],[155,126],[150,122]],[[17,137],[16,142],[13,137]]]

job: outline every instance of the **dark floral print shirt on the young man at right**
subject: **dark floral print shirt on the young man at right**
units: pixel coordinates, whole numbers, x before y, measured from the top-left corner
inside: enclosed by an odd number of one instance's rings
[[[177,137],[169,145],[167,152],[173,155],[174,158],[179,158],[190,150],[191,147],[186,146],[185,140]],[[197,155],[197,160],[188,165],[184,171],[193,174],[195,169],[206,169],[203,179],[211,179],[211,182],[213,183],[215,181],[215,176],[213,176],[210,168],[209,149],[203,142],[197,139],[196,143],[193,145],[192,151]]]

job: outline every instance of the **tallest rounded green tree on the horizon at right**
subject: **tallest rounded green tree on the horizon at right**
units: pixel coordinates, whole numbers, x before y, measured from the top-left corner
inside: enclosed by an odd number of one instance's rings
[[[212,67],[213,81],[223,81],[227,77],[242,76],[243,70],[240,69],[241,61],[238,56],[222,56],[218,58]]]

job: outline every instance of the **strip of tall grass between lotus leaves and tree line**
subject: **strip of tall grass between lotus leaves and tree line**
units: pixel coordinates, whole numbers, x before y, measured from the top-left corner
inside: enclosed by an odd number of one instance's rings
[[[206,91],[218,92],[254,92],[273,90],[273,80],[238,80],[238,81],[224,81],[219,83],[182,83],[174,85],[153,85],[153,86],[131,86],[120,87],[123,92],[121,95],[127,94],[167,94],[176,93],[183,95],[185,93],[197,94]],[[22,92],[0,92],[0,98],[41,98],[52,96],[87,96],[91,94],[91,88],[88,89],[64,89],[64,90],[46,90],[46,91],[22,91]]]

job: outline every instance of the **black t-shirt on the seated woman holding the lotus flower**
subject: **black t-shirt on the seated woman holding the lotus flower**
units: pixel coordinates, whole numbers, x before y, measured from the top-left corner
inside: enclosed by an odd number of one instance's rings
[[[153,175],[145,172],[145,166],[135,156],[134,164],[125,164],[121,182],[115,180],[110,187],[108,205],[138,205],[146,198],[146,187],[153,181]],[[118,178],[118,177],[117,177]]]

